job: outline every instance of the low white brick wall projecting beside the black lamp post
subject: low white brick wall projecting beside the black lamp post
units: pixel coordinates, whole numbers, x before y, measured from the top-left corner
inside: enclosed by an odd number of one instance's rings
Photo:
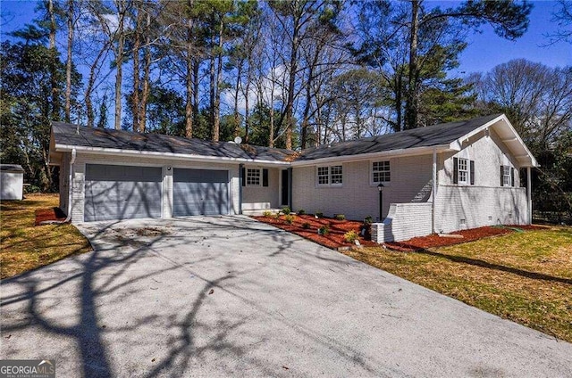
[[[401,242],[432,232],[432,203],[391,203],[383,223],[372,225],[374,242]]]

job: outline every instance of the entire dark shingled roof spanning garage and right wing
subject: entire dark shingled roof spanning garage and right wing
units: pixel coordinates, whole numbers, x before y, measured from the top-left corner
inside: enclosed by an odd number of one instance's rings
[[[494,114],[476,119],[442,123],[430,127],[401,131],[400,133],[331,144],[329,146],[323,145],[309,148],[302,152],[250,144],[188,139],[181,136],[140,134],[108,128],[78,127],[77,125],[63,122],[54,122],[53,131],[56,144],[141,152],[171,152],[248,160],[304,161],[450,144],[500,115]],[[80,133],[78,134],[76,130],[80,130]]]

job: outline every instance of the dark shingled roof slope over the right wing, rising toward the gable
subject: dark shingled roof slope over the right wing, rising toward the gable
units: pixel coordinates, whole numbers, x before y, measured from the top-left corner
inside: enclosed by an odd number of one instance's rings
[[[501,114],[494,114],[465,121],[419,127],[399,133],[384,134],[383,136],[372,136],[364,139],[331,144],[330,146],[322,145],[304,150],[297,160],[316,160],[336,156],[358,155],[361,153],[388,152],[392,150],[450,144],[500,115]]]

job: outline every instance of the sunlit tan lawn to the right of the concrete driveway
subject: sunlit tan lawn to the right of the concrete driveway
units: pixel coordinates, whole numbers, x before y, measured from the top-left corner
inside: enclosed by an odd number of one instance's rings
[[[572,228],[415,252],[342,253],[492,314],[572,342]]]

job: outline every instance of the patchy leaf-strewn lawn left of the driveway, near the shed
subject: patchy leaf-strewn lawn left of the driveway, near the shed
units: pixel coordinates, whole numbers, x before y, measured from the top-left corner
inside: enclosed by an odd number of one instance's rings
[[[75,226],[34,226],[35,210],[58,205],[57,194],[27,194],[23,201],[2,201],[0,278],[20,275],[65,257],[91,251]]]

